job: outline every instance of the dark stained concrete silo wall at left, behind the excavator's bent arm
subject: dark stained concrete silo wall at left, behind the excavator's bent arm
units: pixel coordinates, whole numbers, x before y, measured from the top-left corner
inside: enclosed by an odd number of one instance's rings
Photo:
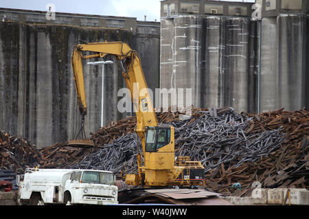
[[[71,68],[71,51],[76,40],[123,41],[135,49],[133,32],[123,29],[82,28],[65,25],[0,23],[0,129],[22,136],[39,147],[71,140],[80,130],[80,113]],[[149,36],[151,40],[151,36]],[[141,60],[150,75],[159,75],[159,40],[143,46],[137,40]],[[158,57],[157,68],[152,60]],[[117,92],[126,88],[122,68],[114,57],[104,74],[104,125],[125,118],[117,110]],[[88,113],[87,135],[101,125],[102,66],[84,61]],[[157,84],[156,84],[157,83]],[[149,81],[159,87],[159,79]]]

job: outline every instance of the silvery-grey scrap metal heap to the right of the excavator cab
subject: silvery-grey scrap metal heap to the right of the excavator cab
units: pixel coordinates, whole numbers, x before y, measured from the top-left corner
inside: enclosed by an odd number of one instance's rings
[[[217,117],[204,112],[190,125],[173,123],[177,154],[201,161],[205,172],[216,175],[221,164],[230,168],[232,162],[236,162],[237,168],[244,162],[255,162],[279,149],[284,142],[280,129],[248,134],[244,130],[251,119],[230,109]]]

